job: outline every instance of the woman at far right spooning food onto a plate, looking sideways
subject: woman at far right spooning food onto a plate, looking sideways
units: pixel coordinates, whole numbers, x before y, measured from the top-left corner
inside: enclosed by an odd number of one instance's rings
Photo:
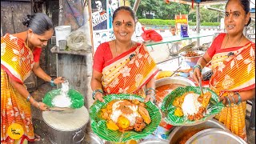
[[[219,95],[226,107],[215,118],[234,134],[246,140],[246,100],[255,96],[255,43],[242,31],[250,23],[250,2],[230,0],[226,4],[227,34],[219,34],[194,67],[194,79],[211,61],[213,75],[210,89]]]

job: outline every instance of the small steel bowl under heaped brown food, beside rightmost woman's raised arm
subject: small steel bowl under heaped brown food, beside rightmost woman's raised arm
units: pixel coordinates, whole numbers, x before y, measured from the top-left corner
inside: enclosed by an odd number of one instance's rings
[[[202,50],[193,50],[195,53],[199,54],[198,56],[195,56],[195,57],[185,57],[183,55],[186,54],[186,51],[182,51],[180,54],[178,54],[179,56],[181,56],[183,58],[183,60],[191,67],[194,67],[197,62],[198,62],[198,59],[202,57],[203,54],[205,54],[204,51]]]

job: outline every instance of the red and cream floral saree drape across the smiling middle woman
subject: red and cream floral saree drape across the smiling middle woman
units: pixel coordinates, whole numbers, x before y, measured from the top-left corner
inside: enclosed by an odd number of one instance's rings
[[[138,94],[145,98],[143,86],[158,73],[158,67],[140,44],[106,62],[102,86],[106,94]]]

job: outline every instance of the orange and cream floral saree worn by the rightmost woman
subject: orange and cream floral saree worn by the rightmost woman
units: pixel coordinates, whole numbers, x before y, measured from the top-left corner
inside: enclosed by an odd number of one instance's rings
[[[227,51],[228,50],[228,51]],[[243,90],[255,88],[255,44],[247,43],[240,48],[228,48],[214,54],[210,88],[219,96],[228,96]],[[231,54],[230,52],[233,52]],[[228,54],[231,54],[228,56]],[[232,100],[230,99],[230,102]],[[216,116],[234,134],[246,138],[246,102],[226,106]]]

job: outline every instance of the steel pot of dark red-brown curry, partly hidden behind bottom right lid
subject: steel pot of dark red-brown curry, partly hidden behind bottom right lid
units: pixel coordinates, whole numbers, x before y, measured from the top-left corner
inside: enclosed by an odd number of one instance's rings
[[[209,128],[218,128],[218,129],[230,131],[221,122],[218,122],[215,119],[210,119],[206,122],[203,122],[201,124],[194,125],[194,126],[176,126],[174,130],[171,131],[168,139],[170,139],[170,143],[178,143],[178,141],[181,138],[185,137],[186,134],[189,134],[194,130],[206,130]]]

